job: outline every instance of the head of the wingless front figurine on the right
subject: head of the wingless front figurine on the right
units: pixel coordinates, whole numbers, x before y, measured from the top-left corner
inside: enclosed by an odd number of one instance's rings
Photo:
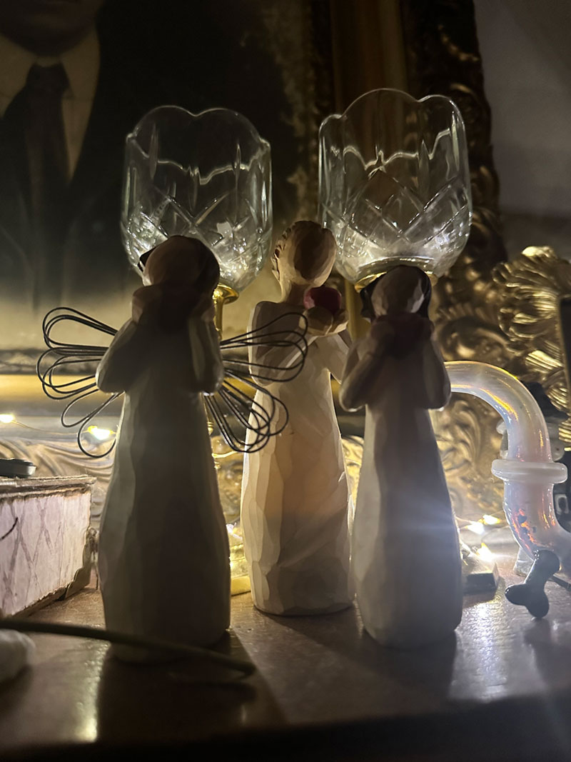
[[[398,265],[362,289],[362,315],[373,319],[416,312],[428,317],[430,294],[430,279],[425,272],[412,265]]]

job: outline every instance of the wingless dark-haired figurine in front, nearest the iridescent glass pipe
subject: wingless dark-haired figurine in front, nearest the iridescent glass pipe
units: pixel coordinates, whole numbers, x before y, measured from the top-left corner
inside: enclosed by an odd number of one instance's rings
[[[462,615],[458,530],[429,418],[450,383],[428,318],[429,277],[397,266],[363,296],[371,331],[352,348],[340,391],[346,410],[366,406],[352,575],[369,635],[414,648],[448,636]]]

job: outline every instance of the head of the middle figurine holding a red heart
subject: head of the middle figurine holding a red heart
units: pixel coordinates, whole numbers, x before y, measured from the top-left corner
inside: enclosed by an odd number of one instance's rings
[[[282,288],[323,286],[335,261],[333,233],[309,220],[294,223],[283,233],[273,253],[273,272]]]

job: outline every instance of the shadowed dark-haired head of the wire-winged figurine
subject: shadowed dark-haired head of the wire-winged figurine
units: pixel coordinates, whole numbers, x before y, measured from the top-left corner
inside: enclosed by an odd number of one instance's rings
[[[173,235],[141,257],[143,288],[133,294],[133,319],[155,317],[162,328],[181,328],[193,315],[212,309],[220,268],[198,239]]]

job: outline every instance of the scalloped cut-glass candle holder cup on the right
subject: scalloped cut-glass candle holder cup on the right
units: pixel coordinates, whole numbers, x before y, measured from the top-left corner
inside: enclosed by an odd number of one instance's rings
[[[470,171],[461,114],[442,95],[374,90],[319,130],[321,222],[360,286],[396,264],[442,275],[466,244]]]

